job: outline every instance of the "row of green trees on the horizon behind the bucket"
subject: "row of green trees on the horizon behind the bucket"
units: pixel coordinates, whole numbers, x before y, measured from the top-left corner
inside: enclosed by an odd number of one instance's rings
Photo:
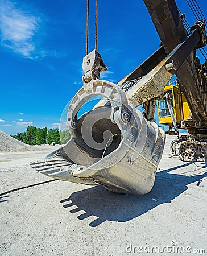
[[[23,133],[11,135],[11,137],[18,139],[28,145],[42,145],[42,144],[65,144],[71,138],[69,130],[59,132],[58,128],[47,129],[37,128],[35,126],[28,126]]]

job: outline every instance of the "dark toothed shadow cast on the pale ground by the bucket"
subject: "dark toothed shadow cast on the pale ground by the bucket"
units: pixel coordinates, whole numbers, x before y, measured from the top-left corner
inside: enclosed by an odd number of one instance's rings
[[[200,185],[201,179],[207,176],[207,171],[205,174],[194,176],[169,173],[189,164],[193,163],[184,163],[180,166],[158,172],[155,185],[147,195],[122,195],[107,191],[104,187],[98,185],[74,192],[67,199],[61,200],[60,203],[66,203],[63,207],[68,209],[74,208],[74,205],[76,205],[76,209],[69,210],[71,213],[84,210],[85,213],[78,216],[79,220],[90,216],[97,217],[96,220],[90,222],[89,226],[92,227],[98,226],[106,220],[117,222],[129,221],[160,204],[171,203],[175,197],[188,189],[187,185],[196,181],[198,182],[195,185]],[[204,163],[202,168],[205,168],[206,164]],[[200,167],[197,169],[200,169]]]

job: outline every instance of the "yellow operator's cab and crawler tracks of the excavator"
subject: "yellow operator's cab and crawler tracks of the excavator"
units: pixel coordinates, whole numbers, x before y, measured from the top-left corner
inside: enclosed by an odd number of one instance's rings
[[[203,77],[207,83],[206,76]],[[167,99],[161,98],[156,101],[159,123],[169,127],[165,133],[178,135],[178,139],[171,142],[171,152],[181,160],[206,161],[206,131],[196,134],[196,122],[191,118],[193,106],[189,107],[177,81],[169,81],[163,92],[169,95],[169,103]],[[172,113],[169,104],[172,106]],[[202,128],[205,127],[204,125]],[[179,129],[188,129],[188,134],[179,136]]]

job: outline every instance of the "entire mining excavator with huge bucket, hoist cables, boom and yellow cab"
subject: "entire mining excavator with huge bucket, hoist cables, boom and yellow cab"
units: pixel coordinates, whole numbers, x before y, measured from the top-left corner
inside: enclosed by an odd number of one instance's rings
[[[86,47],[82,88],[68,107],[71,139],[45,159],[30,163],[36,171],[73,183],[102,184],[119,193],[148,193],[165,143],[165,132],[154,119],[156,100],[160,121],[169,123],[172,118],[178,135],[177,144],[173,145],[176,153],[183,160],[206,160],[206,64],[196,58],[196,49],[206,46],[205,22],[197,20],[187,31],[184,14],[179,13],[174,0],[144,3],[162,44],[114,84],[100,79],[100,72],[107,67],[97,52],[96,36],[94,51],[88,53]],[[174,75],[179,86],[165,87]],[[94,96],[101,100],[80,114]],[[139,111],[140,105],[144,113]],[[179,137],[180,126],[189,130],[188,138]]]

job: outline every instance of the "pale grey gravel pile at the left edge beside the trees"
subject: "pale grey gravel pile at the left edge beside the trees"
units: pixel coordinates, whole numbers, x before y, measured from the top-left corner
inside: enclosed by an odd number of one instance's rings
[[[9,134],[0,130],[0,151],[17,152],[17,151],[39,151],[39,148],[27,145]]]

